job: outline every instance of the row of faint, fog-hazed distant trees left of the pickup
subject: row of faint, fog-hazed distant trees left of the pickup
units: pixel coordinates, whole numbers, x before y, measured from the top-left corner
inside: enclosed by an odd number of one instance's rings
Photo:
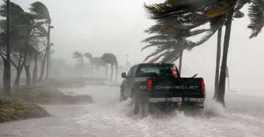
[[[117,57],[112,53],[104,53],[101,55],[101,57],[93,57],[91,53],[80,53],[79,51],[73,52],[73,58],[77,60],[77,62],[80,62],[81,66],[84,66],[84,58],[87,58],[90,60],[90,63],[92,65],[92,69],[97,68],[97,71],[99,71],[99,67],[103,66],[105,69],[105,75],[106,78],[108,77],[108,69],[110,66],[111,74],[110,74],[110,81],[112,82],[113,79],[113,71],[115,66],[115,82],[117,82],[118,77],[118,61]]]

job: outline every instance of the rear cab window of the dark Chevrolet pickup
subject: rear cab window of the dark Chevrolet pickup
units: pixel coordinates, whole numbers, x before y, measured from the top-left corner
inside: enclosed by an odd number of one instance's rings
[[[173,66],[141,66],[136,77],[173,77]]]

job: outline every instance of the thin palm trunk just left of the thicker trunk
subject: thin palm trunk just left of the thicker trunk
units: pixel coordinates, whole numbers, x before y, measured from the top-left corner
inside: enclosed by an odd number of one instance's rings
[[[213,99],[216,99],[219,94],[218,86],[219,86],[219,66],[221,59],[221,34],[222,34],[222,28],[219,28],[217,34],[217,58],[216,58],[216,67],[215,67],[215,95]]]

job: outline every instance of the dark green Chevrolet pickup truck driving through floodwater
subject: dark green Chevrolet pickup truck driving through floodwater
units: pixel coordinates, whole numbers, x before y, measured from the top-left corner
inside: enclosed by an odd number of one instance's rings
[[[174,64],[144,63],[122,73],[120,100],[133,99],[134,114],[149,112],[154,104],[174,108],[204,108],[203,78],[180,77]]]

